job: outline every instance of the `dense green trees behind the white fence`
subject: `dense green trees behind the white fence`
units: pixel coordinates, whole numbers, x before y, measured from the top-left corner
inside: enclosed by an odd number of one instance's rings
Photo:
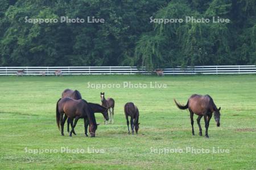
[[[25,22],[94,16],[105,23]],[[156,23],[151,19],[230,19]],[[150,19],[151,18],[151,19]],[[1,0],[0,66],[246,65],[256,63],[256,0]]]

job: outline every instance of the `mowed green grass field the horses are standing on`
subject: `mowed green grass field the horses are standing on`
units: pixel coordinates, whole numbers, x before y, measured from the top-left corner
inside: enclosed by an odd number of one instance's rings
[[[121,88],[88,88],[88,82],[121,84]],[[123,82],[147,84],[147,88],[123,88]],[[150,82],[167,88],[150,88]],[[110,86],[110,85],[109,85]],[[111,85],[114,86],[114,85]],[[115,100],[114,124],[104,125],[96,113],[96,138],[84,136],[79,120],[77,135],[65,136],[56,126],[56,101],[65,88],[79,90],[92,103],[101,103],[100,92]],[[256,76],[147,76],[90,75],[63,77],[0,77],[0,169],[256,169]],[[209,139],[191,134],[188,111],[176,108],[192,94],[209,94],[221,107],[221,126],[210,121]],[[138,135],[128,135],[123,105],[139,108]],[[201,120],[204,135],[204,120]],[[52,149],[32,154],[25,151]],[[85,153],[63,153],[61,147]],[[90,153],[90,149],[104,152]],[[197,149],[196,153],[186,148]],[[213,153],[213,147],[229,153]],[[156,150],[182,153],[156,153]],[[154,149],[154,152],[151,152]],[[209,153],[202,153],[209,150]],[[90,150],[92,151],[92,150]]]

